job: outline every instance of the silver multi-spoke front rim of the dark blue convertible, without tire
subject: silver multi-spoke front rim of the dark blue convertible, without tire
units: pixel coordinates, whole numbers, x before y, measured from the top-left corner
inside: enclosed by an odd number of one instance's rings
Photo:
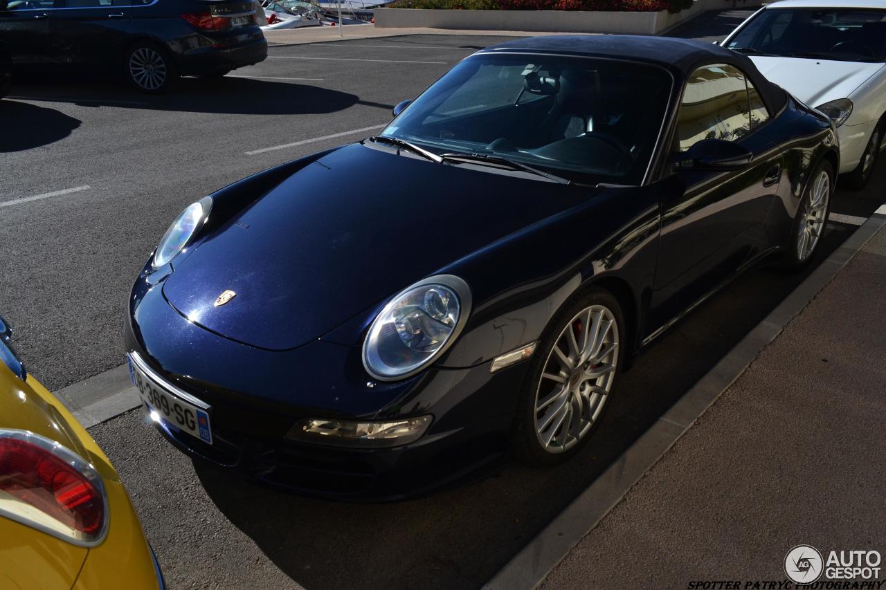
[[[563,453],[591,431],[618,369],[619,327],[605,306],[582,309],[548,353],[535,393],[535,433],[548,453]]]

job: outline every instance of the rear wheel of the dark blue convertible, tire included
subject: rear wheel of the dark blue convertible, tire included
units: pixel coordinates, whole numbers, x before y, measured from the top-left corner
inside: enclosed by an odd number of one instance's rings
[[[789,269],[803,268],[815,253],[828,224],[830,198],[834,192],[834,168],[825,161],[815,168],[794,218],[794,229],[785,252]]]

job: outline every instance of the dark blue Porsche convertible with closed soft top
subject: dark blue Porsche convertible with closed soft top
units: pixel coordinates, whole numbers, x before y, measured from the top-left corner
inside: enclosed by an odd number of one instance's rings
[[[132,377],[185,453],[396,498],[508,446],[566,460],[643,345],[756,261],[801,268],[828,118],[677,39],[522,39],[377,136],[187,207],[128,300]]]

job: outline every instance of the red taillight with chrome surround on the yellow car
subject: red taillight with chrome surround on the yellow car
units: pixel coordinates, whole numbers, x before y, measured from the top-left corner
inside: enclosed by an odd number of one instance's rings
[[[107,530],[105,485],[92,465],[58,442],[0,429],[0,516],[89,547]]]

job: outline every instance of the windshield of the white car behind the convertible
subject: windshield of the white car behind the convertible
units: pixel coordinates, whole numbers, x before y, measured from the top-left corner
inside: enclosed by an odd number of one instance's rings
[[[886,11],[769,9],[742,28],[727,47],[750,55],[882,62]]]

